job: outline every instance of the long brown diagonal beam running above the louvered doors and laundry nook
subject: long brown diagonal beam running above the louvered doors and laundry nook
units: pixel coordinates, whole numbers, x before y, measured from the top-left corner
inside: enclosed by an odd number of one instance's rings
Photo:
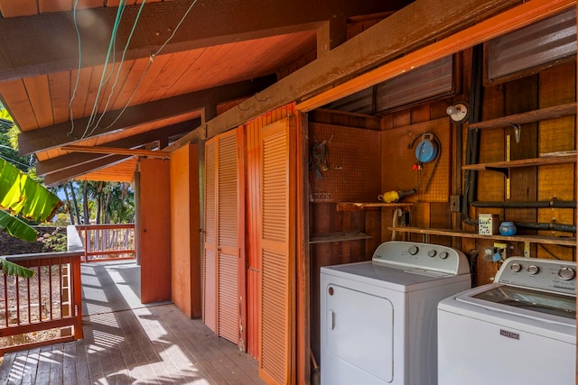
[[[229,110],[212,119],[207,123],[207,137],[237,127],[278,105],[320,93],[430,41],[449,36],[470,25],[472,20],[488,19],[518,4],[516,0],[490,0],[483,3],[468,0],[456,7],[451,0],[443,0],[441,3],[415,2],[407,5],[368,31],[331,50],[330,54],[322,55],[266,88],[259,93],[258,100],[248,99],[238,109]],[[423,17],[427,14],[435,14],[435,17]],[[351,55],[352,50],[356,55]],[[199,137],[200,133],[197,132],[188,134],[174,143],[172,148],[178,148]]]

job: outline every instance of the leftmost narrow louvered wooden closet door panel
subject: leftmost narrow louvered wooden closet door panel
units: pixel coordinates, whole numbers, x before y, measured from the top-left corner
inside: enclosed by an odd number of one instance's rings
[[[205,145],[205,244],[203,258],[202,320],[218,333],[217,327],[217,139]]]

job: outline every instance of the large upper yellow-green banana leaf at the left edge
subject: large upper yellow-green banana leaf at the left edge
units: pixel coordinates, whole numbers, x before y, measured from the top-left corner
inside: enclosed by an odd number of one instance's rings
[[[54,216],[61,205],[59,197],[0,159],[0,209],[43,222]]]

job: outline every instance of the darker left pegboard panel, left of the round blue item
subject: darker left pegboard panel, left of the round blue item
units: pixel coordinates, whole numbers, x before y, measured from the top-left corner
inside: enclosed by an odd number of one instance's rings
[[[309,124],[312,202],[378,201],[381,134],[332,124]]]

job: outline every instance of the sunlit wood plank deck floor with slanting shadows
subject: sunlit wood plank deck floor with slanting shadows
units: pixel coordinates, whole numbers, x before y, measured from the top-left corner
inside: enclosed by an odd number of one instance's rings
[[[83,266],[85,338],[6,354],[0,384],[264,383],[255,359],[200,320],[141,305],[137,273],[134,263]]]

